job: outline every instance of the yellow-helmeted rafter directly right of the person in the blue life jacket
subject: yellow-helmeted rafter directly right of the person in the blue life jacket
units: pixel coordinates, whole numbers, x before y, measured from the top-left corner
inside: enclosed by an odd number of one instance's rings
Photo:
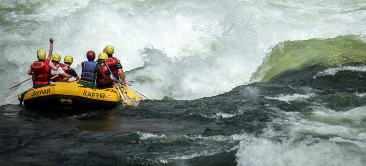
[[[108,55],[105,54],[104,52],[100,53],[98,55],[98,65],[101,66],[101,69],[102,71],[98,71],[98,75],[97,75],[97,88],[98,89],[104,89],[104,88],[113,88],[113,84],[112,82],[117,82],[116,79],[112,80],[112,81],[108,81],[106,80],[102,74],[105,74],[105,75],[111,75],[112,73],[109,73],[109,70],[108,70],[108,67],[107,67],[107,62],[108,60]],[[110,76],[112,77],[112,75]],[[110,78],[112,79],[112,78]]]

